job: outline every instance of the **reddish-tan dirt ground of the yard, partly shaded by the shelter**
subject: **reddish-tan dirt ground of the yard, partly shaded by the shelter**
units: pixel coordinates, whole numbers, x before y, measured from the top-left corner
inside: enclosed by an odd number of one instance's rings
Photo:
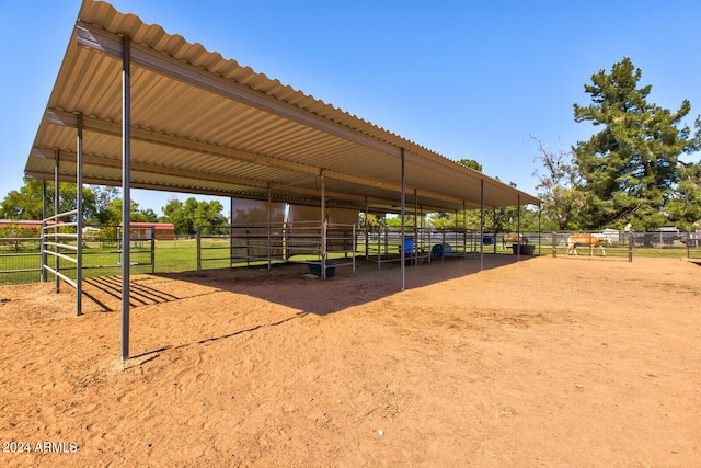
[[[701,465],[701,265],[479,266],[0,287],[0,466]]]

